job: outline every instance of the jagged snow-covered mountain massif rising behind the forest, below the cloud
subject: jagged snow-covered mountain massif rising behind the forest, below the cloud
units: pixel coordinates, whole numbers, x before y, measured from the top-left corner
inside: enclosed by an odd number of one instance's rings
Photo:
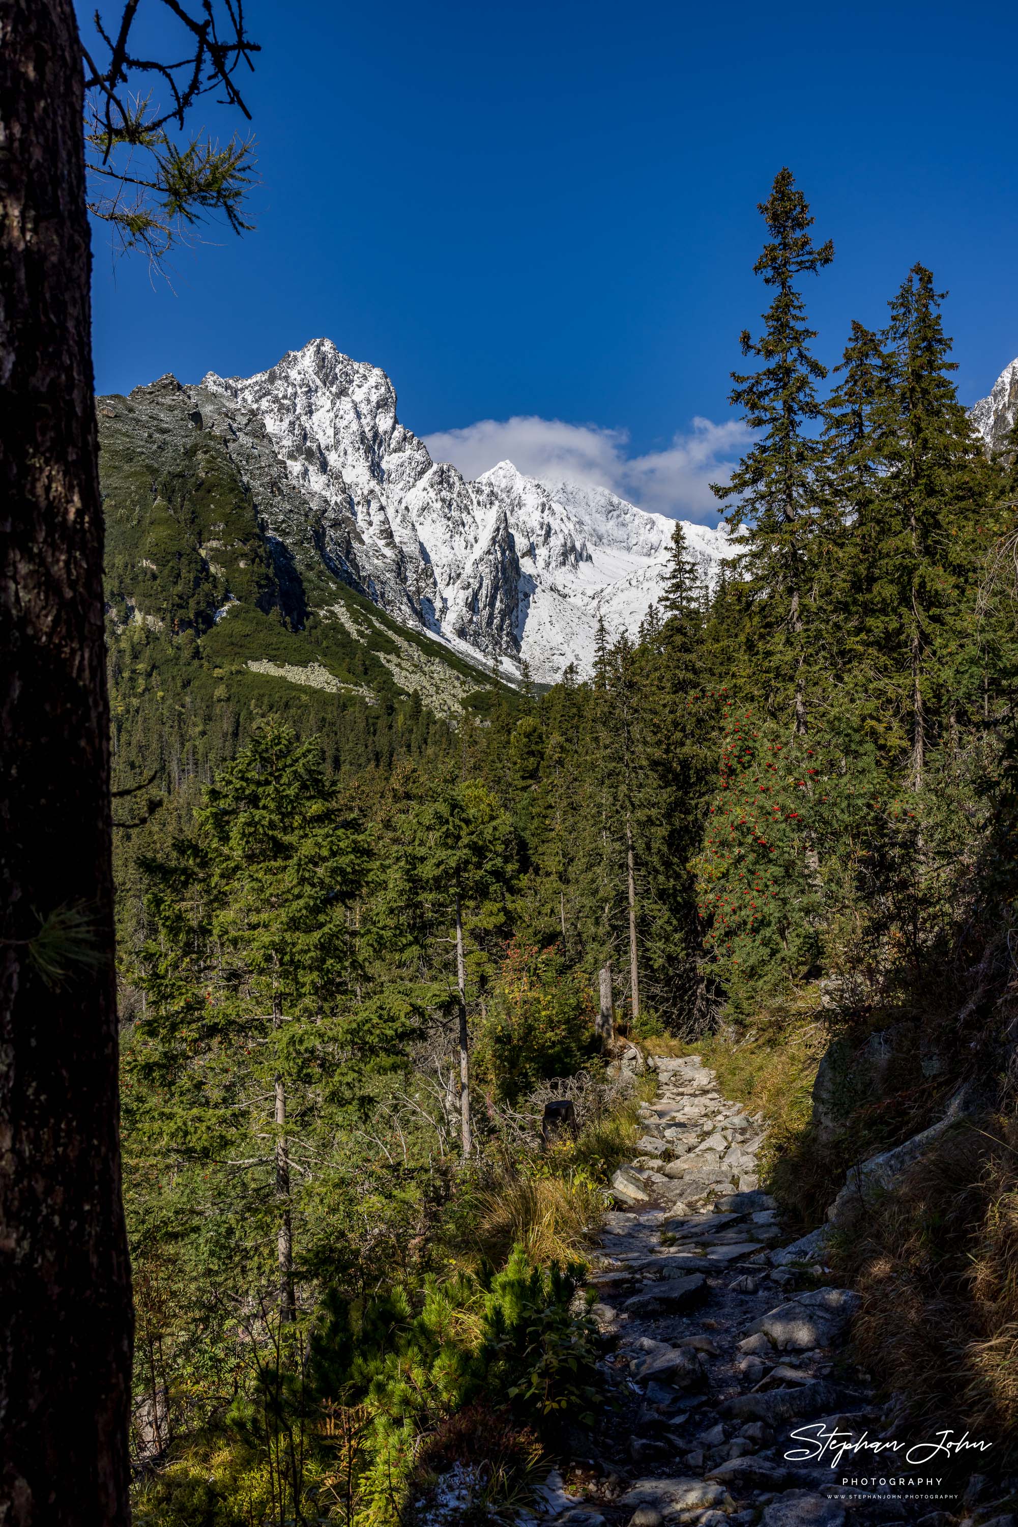
[[[499,461],[475,483],[397,417],[379,366],[330,339],[253,377],[209,373],[203,388],[264,426],[308,502],[325,563],[377,605],[464,654],[522,660],[536,678],[588,672],[600,620],[635,631],[661,596],[675,522],[606,487],[542,483]],[[270,518],[269,508],[266,510]],[[685,525],[707,580],[720,530]]]

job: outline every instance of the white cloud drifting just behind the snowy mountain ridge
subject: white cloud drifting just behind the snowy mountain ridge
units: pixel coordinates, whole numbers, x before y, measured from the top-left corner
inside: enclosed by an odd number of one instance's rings
[[[511,461],[527,476],[546,483],[589,483],[607,487],[641,508],[679,519],[714,521],[720,505],[711,483],[726,483],[731,463],[745,444],[740,423],[714,425],[694,418],[665,450],[626,455],[629,434],[598,425],[566,425],[560,418],[516,415],[482,418],[466,429],[424,435],[433,461],[452,461],[464,476],[478,478],[499,461]]]

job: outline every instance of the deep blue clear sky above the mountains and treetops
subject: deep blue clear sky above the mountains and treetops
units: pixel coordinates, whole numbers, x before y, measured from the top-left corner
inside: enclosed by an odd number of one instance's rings
[[[96,232],[101,391],[327,334],[418,434],[527,414],[656,450],[728,417],[783,163],[835,240],[807,293],[824,359],[914,260],[951,289],[965,402],[1018,354],[1013,3],[247,9],[258,231],[206,229],[172,289]]]

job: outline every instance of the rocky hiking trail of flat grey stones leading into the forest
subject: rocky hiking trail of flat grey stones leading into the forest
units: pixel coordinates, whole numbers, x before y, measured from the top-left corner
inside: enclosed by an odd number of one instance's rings
[[[720,1096],[699,1057],[652,1064],[658,1096],[641,1106],[641,1154],[612,1179],[621,1208],[606,1215],[591,1274],[614,1411],[598,1428],[598,1457],[574,1460],[569,1490],[551,1475],[530,1519],[948,1527],[955,1518],[928,1486],[916,1501],[887,1486],[841,1486],[842,1477],[928,1478],[943,1466],[910,1469],[873,1452],[847,1454],[841,1467],[830,1467],[830,1451],[786,1457],[810,1451],[791,1437],[807,1425],[893,1435],[890,1408],[875,1403],[847,1351],[858,1295],[832,1283],[823,1229],[781,1245],[777,1206],[755,1173],[760,1119]],[[986,1493],[978,1481],[969,1498]],[[957,1500],[943,1504],[957,1512]],[[989,1519],[1015,1527],[992,1510]]]

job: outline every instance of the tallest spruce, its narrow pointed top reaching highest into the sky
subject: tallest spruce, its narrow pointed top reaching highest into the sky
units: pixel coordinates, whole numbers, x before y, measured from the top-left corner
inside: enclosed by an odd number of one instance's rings
[[[752,374],[733,373],[731,403],[745,411],[757,432],[726,486],[714,486],[731,499],[728,525],[745,522],[739,573],[751,594],[749,666],[769,707],[789,713],[797,733],[807,728],[812,620],[807,611],[813,577],[817,472],[823,443],[810,426],[823,418],[817,383],[826,366],[810,354],[809,328],[797,281],[815,275],[833,260],[830,241],[817,247],[809,229],[813,218],[791,169],[780,169],[766,202],[760,203],[769,240],[754,266],[774,301],[763,315],[765,331],[754,341],[745,330],[742,353],[762,366]]]

